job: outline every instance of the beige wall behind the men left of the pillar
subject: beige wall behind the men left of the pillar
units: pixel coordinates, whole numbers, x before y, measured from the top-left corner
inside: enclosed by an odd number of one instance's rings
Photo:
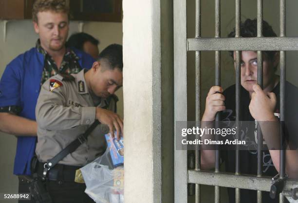
[[[13,20],[6,24],[6,40],[4,41],[4,21],[0,20],[0,76],[5,66],[20,53],[35,46],[37,34],[34,33],[31,20]],[[70,33],[78,32],[78,22],[72,21]],[[100,40],[99,50],[112,43],[122,44],[122,23],[85,22],[83,32]],[[118,112],[123,118],[123,93],[118,90]],[[16,152],[16,138],[0,133],[0,191],[16,192],[17,177],[12,174]],[[4,167],[3,167],[4,166]]]

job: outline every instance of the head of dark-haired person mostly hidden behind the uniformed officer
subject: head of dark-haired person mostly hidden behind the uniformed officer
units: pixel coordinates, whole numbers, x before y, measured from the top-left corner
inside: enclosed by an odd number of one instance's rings
[[[99,41],[87,33],[72,34],[66,42],[67,47],[75,47],[78,50],[89,53],[94,59],[98,58]]]

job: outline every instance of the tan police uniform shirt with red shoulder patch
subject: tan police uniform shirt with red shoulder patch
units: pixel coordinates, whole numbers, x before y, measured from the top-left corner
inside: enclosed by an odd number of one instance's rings
[[[95,106],[115,112],[115,99],[98,98],[88,91],[84,69],[72,74],[73,80],[56,75],[40,90],[36,106],[37,158],[47,162],[68,144],[82,135],[95,120]],[[110,101],[110,102],[108,102]],[[100,124],[88,136],[87,142],[64,157],[59,164],[84,166],[106,150],[104,134],[107,125]]]

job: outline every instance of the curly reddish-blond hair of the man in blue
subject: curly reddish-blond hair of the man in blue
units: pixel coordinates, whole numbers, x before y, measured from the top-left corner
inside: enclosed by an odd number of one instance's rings
[[[65,0],[36,0],[32,8],[32,19],[38,23],[37,13],[43,11],[54,11],[65,13],[69,19],[69,7]]]

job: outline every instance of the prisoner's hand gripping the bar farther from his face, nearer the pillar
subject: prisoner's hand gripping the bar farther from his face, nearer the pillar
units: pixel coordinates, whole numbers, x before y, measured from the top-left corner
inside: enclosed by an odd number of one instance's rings
[[[225,109],[225,98],[223,94],[220,94],[219,92],[223,92],[223,88],[220,86],[213,86],[210,88],[206,98],[206,107],[202,121],[215,120],[216,113]]]

